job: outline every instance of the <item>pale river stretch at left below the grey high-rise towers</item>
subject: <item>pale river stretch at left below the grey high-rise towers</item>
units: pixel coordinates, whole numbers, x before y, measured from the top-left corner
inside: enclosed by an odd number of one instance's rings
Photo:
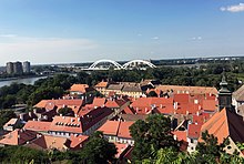
[[[24,84],[34,84],[34,82],[39,79],[45,79],[47,76],[34,76],[34,78],[24,78],[24,79],[14,79],[0,81],[0,88],[4,85],[10,85],[11,83],[24,83]]]

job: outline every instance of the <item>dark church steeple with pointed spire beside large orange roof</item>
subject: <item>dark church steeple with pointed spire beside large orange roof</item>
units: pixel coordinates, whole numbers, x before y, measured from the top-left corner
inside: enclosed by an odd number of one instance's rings
[[[227,82],[223,71],[222,82],[220,83],[221,90],[218,91],[218,111],[224,107],[234,111],[232,107],[232,92],[227,89]]]

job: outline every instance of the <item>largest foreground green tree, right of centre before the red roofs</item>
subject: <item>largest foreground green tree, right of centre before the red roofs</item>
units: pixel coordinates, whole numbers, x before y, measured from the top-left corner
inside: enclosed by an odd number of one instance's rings
[[[133,160],[143,160],[151,156],[153,146],[155,151],[164,147],[179,150],[180,143],[171,133],[171,120],[162,114],[152,114],[145,121],[139,120],[130,126],[130,133],[134,139]]]

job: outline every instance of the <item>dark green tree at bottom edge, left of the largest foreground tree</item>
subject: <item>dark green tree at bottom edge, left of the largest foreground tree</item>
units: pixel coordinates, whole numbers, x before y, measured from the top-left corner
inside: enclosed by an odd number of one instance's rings
[[[108,164],[114,161],[116,147],[109,143],[101,132],[95,132],[81,151],[87,164]]]

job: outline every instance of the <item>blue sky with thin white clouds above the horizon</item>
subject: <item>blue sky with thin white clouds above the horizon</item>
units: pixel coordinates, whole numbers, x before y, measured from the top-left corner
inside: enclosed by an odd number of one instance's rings
[[[244,55],[244,0],[1,0],[0,65]]]

